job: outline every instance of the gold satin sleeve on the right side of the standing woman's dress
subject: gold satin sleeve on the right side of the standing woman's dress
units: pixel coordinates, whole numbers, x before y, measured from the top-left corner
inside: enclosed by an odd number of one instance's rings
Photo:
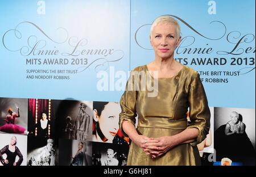
[[[189,119],[191,120],[191,125],[188,128],[197,128],[199,130],[196,141],[191,142],[191,145],[195,146],[206,138],[210,129],[210,109],[204,86],[198,73],[189,88],[188,103]]]

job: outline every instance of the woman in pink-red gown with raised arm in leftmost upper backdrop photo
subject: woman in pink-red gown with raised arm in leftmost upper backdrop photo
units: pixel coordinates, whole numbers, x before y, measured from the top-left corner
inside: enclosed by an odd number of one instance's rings
[[[13,112],[13,110],[10,108],[8,109],[8,115],[5,117],[6,124],[0,127],[0,131],[6,132],[6,133],[17,133],[17,134],[22,134],[26,131],[25,128],[23,128],[20,125],[15,124],[16,118],[20,117],[19,115],[19,108],[18,109],[18,114]]]

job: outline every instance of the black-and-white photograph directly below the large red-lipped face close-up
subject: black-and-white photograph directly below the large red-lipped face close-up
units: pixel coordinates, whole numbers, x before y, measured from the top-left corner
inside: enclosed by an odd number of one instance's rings
[[[126,166],[129,145],[93,142],[93,166]]]

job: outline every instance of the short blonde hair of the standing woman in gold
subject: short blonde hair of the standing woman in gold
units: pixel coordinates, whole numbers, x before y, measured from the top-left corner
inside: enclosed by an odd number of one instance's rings
[[[177,22],[177,20],[175,20],[174,18],[172,18],[169,15],[162,15],[162,16],[159,16],[158,18],[156,18],[154,20],[154,22],[152,23],[151,28],[150,28],[150,36],[152,35],[154,27],[157,26],[159,23],[170,23],[170,24],[173,24],[174,26],[176,26],[177,39],[179,39],[179,37],[180,37],[180,25]]]

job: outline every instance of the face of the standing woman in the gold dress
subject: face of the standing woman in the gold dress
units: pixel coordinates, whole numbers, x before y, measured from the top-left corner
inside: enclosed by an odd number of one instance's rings
[[[150,36],[150,44],[155,50],[155,57],[168,59],[174,55],[177,40],[176,26],[170,23],[159,23],[156,25]]]

